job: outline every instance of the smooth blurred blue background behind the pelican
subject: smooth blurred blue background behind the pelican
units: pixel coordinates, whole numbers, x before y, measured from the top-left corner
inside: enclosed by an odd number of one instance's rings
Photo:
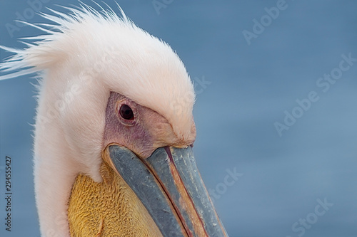
[[[22,48],[18,38],[40,33],[17,26],[19,16],[44,22],[34,11],[79,4],[31,2],[39,1],[0,0],[1,45]],[[341,55],[357,58],[357,1],[118,3],[177,51],[195,82],[194,151],[230,236],[357,236],[357,62],[338,69]],[[0,60],[11,55],[0,53]],[[338,79],[319,79],[330,73]],[[39,236],[31,83],[29,76],[0,81],[0,236]],[[308,106],[311,92],[318,100]],[[6,155],[13,171],[11,232],[4,226]],[[232,172],[236,180],[226,179]]]

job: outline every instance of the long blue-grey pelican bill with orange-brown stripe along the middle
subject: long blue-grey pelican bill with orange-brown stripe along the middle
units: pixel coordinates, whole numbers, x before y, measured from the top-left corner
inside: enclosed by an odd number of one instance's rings
[[[126,147],[111,144],[104,160],[138,196],[163,236],[228,236],[191,147],[161,147],[141,159]]]

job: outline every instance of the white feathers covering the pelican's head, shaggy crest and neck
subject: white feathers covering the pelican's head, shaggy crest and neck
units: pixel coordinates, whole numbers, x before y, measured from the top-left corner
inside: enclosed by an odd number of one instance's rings
[[[120,7],[119,7],[120,9]],[[101,181],[99,167],[109,93],[125,95],[163,115],[178,138],[191,134],[193,85],[176,53],[121,11],[90,6],[41,14],[54,24],[31,24],[43,36],[0,64],[1,79],[39,73],[34,141],[36,203],[41,233],[66,236],[64,221],[77,174]],[[19,71],[18,71],[19,70]],[[169,109],[168,109],[169,108]]]

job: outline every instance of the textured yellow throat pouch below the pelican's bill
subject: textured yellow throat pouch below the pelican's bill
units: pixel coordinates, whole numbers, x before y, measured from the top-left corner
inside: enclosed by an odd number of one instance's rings
[[[162,236],[128,184],[106,163],[101,183],[79,174],[69,199],[71,237]]]

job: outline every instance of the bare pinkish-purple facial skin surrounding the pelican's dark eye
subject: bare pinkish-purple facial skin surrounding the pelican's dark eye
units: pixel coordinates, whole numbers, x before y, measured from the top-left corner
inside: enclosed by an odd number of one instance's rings
[[[122,105],[128,105],[134,113],[134,120],[125,120],[120,115]],[[136,104],[118,93],[111,93],[106,107],[106,126],[103,148],[116,143],[130,149],[139,157],[147,158],[159,147],[187,146],[194,142],[196,129],[191,139],[179,140],[169,122],[154,110]]]

